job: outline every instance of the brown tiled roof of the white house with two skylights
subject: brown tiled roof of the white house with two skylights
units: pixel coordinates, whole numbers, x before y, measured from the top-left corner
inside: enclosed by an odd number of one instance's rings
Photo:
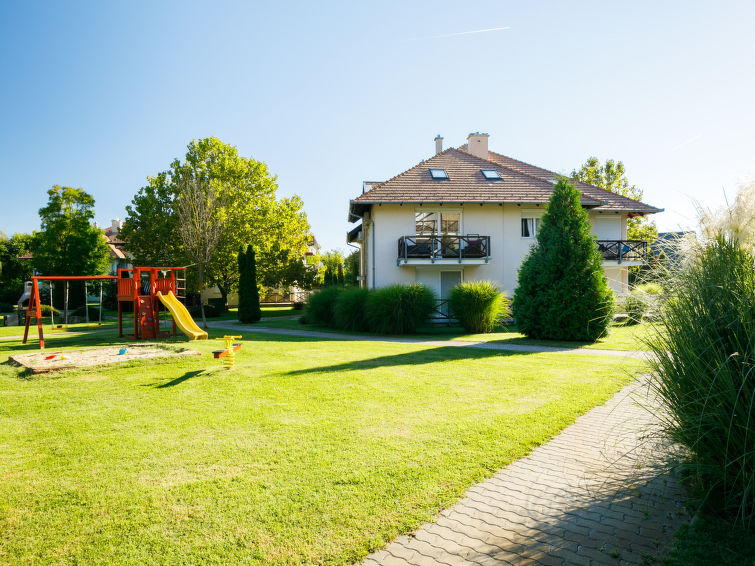
[[[445,169],[448,180],[430,176],[430,169]],[[501,181],[485,179],[481,169],[495,169]],[[460,149],[449,148],[411,169],[372,184],[370,189],[351,202],[349,220],[377,203],[516,203],[545,204],[553,193],[552,179],[558,174],[528,165],[504,155],[490,152],[490,159],[480,159]],[[582,205],[604,211],[651,213],[660,209],[616,195],[586,183],[576,183],[582,192]]]

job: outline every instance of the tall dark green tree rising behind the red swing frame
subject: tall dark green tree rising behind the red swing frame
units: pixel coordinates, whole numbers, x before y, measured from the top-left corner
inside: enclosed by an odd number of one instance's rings
[[[100,275],[109,250],[94,226],[94,198],[83,189],[55,185],[39,210],[42,231],[32,243],[34,268],[44,275]]]

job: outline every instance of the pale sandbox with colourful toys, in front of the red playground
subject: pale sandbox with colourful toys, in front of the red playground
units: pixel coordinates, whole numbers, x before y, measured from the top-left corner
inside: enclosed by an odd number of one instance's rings
[[[120,352],[123,349],[128,349],[128,351],[121,354]],[[88,348],[86,350],[55,351],[49,349],[33,352],[31,354],[18,354],[10,356],[8,359],[27,368],[33,373],[45,373],[49,371],[111,365],[132,360],[144,360],[147,358],[194,355],[199,355],[199,352],[185,348],[165,346],[162,344],[142,343],[121,344],[118,346],[105,346],[102,348]],[[64,356],[64,358],[61,356]],[[47,359],[48,357],[50,357],[50,359]]]

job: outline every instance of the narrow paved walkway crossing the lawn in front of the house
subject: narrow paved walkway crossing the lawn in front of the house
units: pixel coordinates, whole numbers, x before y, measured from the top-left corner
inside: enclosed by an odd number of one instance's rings
[[[241,332],[256,332],[258,334],[279,334],[282,336],[300,336],[302,338],[325,338],[330,340],[361,340],[366,342],[395,342],[401,344],[419,344],[422,346],[450,346],[453,348],[482,348],[484,350],[502,350],[506,352],[553,353],[553,354],[584,354],[586,356],[611,356],[618,358],[645,359],[647,352],[632,350],[598,350],[594,348],[562,348],[554,346],[532,346],[528,344],[502,344],[500,342],[468,342],[462,340],[427,340],[409,336],[376,336],[361,334],[346,334],[339,332],[320,332],[316,330],[290,330],[287,328],[269,328],[265,326],[250,326],[234,324],[227,321],[208,322],[210,328],[236,330]]]

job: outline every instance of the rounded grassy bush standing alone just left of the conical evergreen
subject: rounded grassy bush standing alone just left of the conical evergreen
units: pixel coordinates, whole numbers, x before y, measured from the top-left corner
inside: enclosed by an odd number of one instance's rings
[[[462,283],[451,290],[448,306],[467,332],[491,332],[506,316],[508,301],[490,281]]]

